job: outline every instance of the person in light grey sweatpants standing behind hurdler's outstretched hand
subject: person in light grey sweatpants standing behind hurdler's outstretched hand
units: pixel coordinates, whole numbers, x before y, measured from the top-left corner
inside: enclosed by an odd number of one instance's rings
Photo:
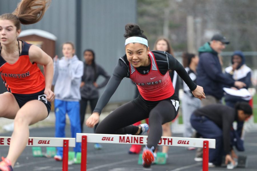
[[[183,66],[190,76],[190,78],[193,80],[193,82],[196,83],[196,67],[198,65],[199,58],[195,54],[190,53],[183,53],[182,55],[182,63]],[[185,82],[183,82],[183,90],[184,95],[182,98],[182,116],[183,116],[183,124],[184,124],[184,137],[191,137],[192,133],[194,132],[194,129],[192,128],[190,124],[190,116],[192,114],[192,111],[195,109],[198,109],[201,106],[201,101],[199,99],[194,98],[194,95],[188,88]],[[188,147],[188,150],[192,150],[194,148]]]

